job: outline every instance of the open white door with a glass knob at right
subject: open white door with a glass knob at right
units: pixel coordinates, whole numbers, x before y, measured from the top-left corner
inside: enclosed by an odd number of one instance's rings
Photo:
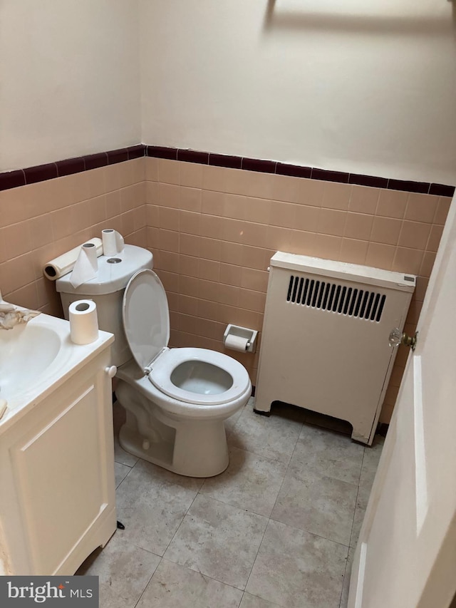
[[[448,608],[456,591],[456,196],[353,560],[348,608]]]

